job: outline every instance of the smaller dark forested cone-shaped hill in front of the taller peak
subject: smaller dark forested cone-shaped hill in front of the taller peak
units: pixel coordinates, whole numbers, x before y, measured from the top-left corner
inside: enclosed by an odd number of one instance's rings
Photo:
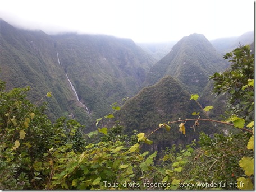
[[[144,87],[137,95],[126,101],[120,111],[115,114],[116,119],[125,126],[126,133],[138,130],[139,133],[151,133],[160,123],[186,118],[195,118],[191,114],[199,111],[195,101],[190,100],[190,94],[178,81],[166,76],[153,86]],[[203,118],[203,115],[202,115]],[[186,137],[179,132],[179,124],[172,124],[170,132],[164,128],[153,134],[149,139],[153,145],[148,146],[161,151],[172,144],[186,144],[197,138],[199,133],[212,134],[218,132],[214,126],[202,123],[198,129],[190,129],[194,122],[186,123]],[[209,128],[207,128],[209,127]]]

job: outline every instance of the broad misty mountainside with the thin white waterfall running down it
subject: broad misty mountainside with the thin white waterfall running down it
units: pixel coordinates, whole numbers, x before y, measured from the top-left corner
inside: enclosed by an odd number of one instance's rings
[[[89,125],[112,102],[131,97],[156,60],[130,39],[20,30],[0,20],[1,72],[8,89],[30,86],[47,101],[51,119],[71,116]],[[88,123],[90,122],[90,123]]]

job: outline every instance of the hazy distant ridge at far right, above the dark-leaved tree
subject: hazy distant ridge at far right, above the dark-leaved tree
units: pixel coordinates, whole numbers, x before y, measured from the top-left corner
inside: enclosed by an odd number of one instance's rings
[[[224,55],[237,48],[237,45],[239,44],[251,44],[253,41],[254,31],[249,31],[238,37],[214,39],[211,41],[211,43],[218,52]]]

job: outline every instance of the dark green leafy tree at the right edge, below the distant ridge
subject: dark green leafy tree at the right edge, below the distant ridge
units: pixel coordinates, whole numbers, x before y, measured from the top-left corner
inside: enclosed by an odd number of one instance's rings
[[[245,121],[254,118],[254,54],[250,45],[239,45],[238,48],[224,56],[232,63],[223,73],[214,73],[213,92],[223,95],[230,93],[227,100],[228,116],[238,115]]]

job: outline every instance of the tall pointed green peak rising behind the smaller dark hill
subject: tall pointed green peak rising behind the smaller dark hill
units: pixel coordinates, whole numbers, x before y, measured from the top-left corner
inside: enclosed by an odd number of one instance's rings
[[[225,69],[228,62],[202,34],[191,34],[175,44],[164,58],[150,69],[144,86],[153,85],[171,75],[191,93],[200,93],[209,75]]]

